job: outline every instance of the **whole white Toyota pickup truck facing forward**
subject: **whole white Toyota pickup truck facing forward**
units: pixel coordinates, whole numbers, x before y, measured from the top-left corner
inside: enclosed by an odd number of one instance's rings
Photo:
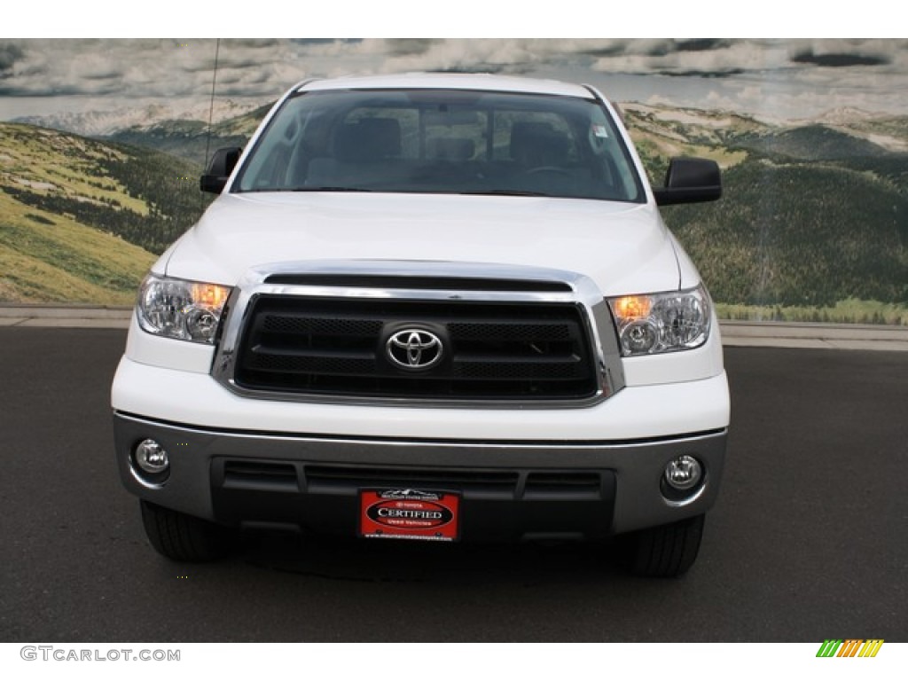
[[[703,282],[595,88],[486,74],[314,80],[143,281],[116,460],[153,547],[238,528],[372,540],[616,537],[694,563],[728,387]]]

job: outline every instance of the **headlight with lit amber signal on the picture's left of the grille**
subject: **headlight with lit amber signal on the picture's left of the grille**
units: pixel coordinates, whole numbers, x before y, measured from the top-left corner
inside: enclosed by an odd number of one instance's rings
[[[230,289],[149,274],[139,290],[139,326],[156,336],[213,343]]]

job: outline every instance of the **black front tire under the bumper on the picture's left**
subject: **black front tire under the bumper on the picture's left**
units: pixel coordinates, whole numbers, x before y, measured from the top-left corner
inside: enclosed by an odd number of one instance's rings
[[[181,563],[201,563],[227,555],[231,544],[229,529],[144,499],[139,503],[145,534],[163,557]]]

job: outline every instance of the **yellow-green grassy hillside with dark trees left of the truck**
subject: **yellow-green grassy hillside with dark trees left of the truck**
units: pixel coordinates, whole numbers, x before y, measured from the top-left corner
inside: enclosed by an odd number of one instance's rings
[[[0,301],[131,304],[154,253],[201,214],[199,169],[0,123]]]

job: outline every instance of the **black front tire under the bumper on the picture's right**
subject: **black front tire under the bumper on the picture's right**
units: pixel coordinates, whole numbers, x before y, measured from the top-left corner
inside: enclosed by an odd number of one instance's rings
[[[696,560],[705,515],[656,528],[641,529],[627,538],[627,561],[638,577],[680,577]]]

